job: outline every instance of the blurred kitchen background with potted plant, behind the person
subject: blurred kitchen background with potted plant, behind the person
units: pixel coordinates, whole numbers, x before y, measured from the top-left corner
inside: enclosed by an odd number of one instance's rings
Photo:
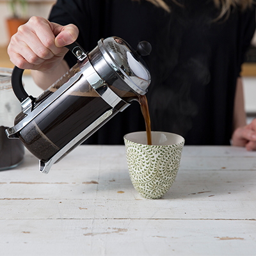
[[[13,67],[6,49],[10,36],[17,31],[17,26],[34,15],[47,19],[55,2],[55,0],[0,0],[0,67]],[[250,122],[256,117],[256,33],[246,54],[241,75],[244,81],[246,114]],[[36,97],[42,93],[42,90],[33,83],[29,70],[24,72],[23,80],[30,95]]]

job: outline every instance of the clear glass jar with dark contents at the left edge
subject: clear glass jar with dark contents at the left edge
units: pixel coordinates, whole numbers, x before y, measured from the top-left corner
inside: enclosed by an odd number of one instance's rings
[[[20,112],[20,102],[11,84],[12,68],[0,68],[0,170],[14,168],[24,158],[24,146],[20,140],[7,138],[5,129],[13,126]]]

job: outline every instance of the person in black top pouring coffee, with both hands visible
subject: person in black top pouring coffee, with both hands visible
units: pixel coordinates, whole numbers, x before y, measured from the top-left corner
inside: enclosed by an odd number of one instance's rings
[[[252,0],[58,0],[49,20],[31,17],[20,26],[8,54],[46,89],[76,63],[65,47],[75,40],[85,51],[108,36],[134,48],[147,40],[152,131],[178,133],[186,145],[255,150],[256,120],[246,125],[240,77],[254,32]],[[143,130],[134,102],[86,143],[122,144],[124,134]]]

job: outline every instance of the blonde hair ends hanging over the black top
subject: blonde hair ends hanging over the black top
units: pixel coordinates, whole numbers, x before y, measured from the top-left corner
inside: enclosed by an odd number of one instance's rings
[[[133,1],[141,1],[141,0],[133,0]],[[157,7],[161,7],[166,12],[170,12],[170,6],[164,1],[164,0],[146,0]],[[172,0],[173,3],[182,6],[182,4],[179,3],[179,0]],[[193,1],[193,0],[191,0]],[[215,6],[220,9],[220,15],[217,17],[216,20],[221,19],[225,15],[229,15],[230,9],[232,7],[238,7],[241,8],[241,10],[245,10],[246,8],[252,6],[253,0],[212,0],[215,4]]]

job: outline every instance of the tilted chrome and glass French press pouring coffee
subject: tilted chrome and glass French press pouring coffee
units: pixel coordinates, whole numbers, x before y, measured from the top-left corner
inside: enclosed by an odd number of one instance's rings
[[[67,47],[77,57],[76,65],[36,99],[22,86],[24,70],[15,67],[12,72],[22,111],[6,134],[22,141],[40,160],[43,173],[144,95],[150,84],[141,60],[151,51],[148,42],[140,42],[137,51],[116,36],[99,40],[88,54],[76,42]]]

